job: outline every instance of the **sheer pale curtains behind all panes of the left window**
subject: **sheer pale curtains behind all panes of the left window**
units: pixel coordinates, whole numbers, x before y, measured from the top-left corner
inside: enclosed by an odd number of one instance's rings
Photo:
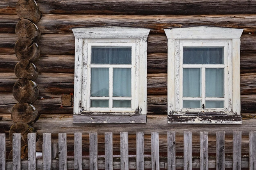
[[[92,47],[91,64],[132,64],[131,47]],[[109,68],[91,69],[91,96],[109,96]],[[131,97],[131,68],[113,68],[113,97]],[[91,100],[91,107],[108,107],[108,100]],[[130,100],[115,100],[114,108],[130,108]]]

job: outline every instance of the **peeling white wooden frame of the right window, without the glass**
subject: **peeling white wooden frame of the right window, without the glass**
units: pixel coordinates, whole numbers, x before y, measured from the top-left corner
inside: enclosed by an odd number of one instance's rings
[[[243,29],[190,27],[165,29],[168,38],[168,123],[241,124],[240,116],[240,36]],[[183,67],[214,67],[183,64],[183,47],[224,48],[224,108],[189,109],[182,107]],[[189,66],[188,66],[189,65]],[[203,73],[203,71],[202,71]],[[202,77],[205,75],[202,75]],[[202,81],[202,97],[205,87]]]

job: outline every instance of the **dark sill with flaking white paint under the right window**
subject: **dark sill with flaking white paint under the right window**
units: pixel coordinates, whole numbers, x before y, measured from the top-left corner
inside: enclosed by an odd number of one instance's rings
[[[169,114],[167,120],[175,124],[242,124],[241,115]]]

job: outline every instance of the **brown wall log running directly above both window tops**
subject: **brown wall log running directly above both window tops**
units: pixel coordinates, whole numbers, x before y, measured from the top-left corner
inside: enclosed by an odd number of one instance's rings
[[[16,15],[2,15],[0,31],[13,29],[19,20]],[[125,26],[150,28],[151,33],[164,33],[164,28],[188,26],[217,26],[243,28],[245,33],[254,33],[256,15],[51,15],[44,14],[37,23],[41,33],[72,33],[72,28],[98,26]],[[6,21],[8,20],[8,21]],[[15,26],[14,26],[15,28]],[[12,32],[9,32],[12,33]],[[14,32],[13,32],[14,33]]]

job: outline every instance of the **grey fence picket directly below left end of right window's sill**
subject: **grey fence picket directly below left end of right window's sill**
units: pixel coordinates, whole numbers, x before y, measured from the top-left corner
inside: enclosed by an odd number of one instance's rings
[[[176,169],[176,148],[175,132],[167,132],[167,163],[168,170]]]

